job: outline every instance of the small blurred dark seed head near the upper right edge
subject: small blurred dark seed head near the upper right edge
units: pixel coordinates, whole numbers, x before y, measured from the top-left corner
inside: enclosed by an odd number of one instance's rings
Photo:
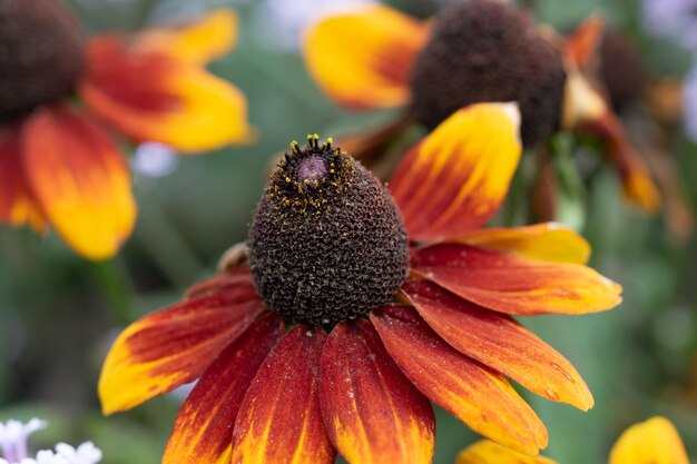
[[[600,77],[616,111],[636,100],[648,81],[639,51],[618,30],[608,30],[602,38]]]

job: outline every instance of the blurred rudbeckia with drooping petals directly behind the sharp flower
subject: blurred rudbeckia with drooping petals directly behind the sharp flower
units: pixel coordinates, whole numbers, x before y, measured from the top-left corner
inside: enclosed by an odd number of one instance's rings
[[[598,135],[625,196],[654,211],[660,195],[651,175],[579,70],[588,56],[583,37],[572,39],[581,40],[567,42],[523,10],[494,0],[453,2],[431,21],[375,3],[317,21],[303,55],[320,88],[347,109],[405,106],[432,130],[467,105],[517,101],[527,148],[560,129]],[[366,138],[384,142],[390,129]]]

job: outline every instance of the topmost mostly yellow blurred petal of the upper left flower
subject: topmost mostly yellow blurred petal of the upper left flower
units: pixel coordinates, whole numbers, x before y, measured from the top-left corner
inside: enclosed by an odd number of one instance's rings
[[[237,16],[222,8],[198,21],[139,33],[134,47],[138,52],[156,51],[177,60],[203,65],[230,51],[236,40]]]

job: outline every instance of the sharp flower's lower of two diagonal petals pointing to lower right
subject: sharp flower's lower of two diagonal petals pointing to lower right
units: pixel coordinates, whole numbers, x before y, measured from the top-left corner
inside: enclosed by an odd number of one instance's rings
[[[458,353],[414,309],[385,306],[371,320],[402,372],[443,409],[513,450],[537,454],[547,446],[544,425],[505,378]]]

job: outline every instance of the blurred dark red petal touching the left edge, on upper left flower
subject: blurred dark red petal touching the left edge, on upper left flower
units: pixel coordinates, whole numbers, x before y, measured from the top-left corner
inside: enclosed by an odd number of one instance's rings
[[[46,218],[24,180],[19,131],[16,128],[0,135],[0,223],[12,226],[29,224],[38,231],[46,228]]]

